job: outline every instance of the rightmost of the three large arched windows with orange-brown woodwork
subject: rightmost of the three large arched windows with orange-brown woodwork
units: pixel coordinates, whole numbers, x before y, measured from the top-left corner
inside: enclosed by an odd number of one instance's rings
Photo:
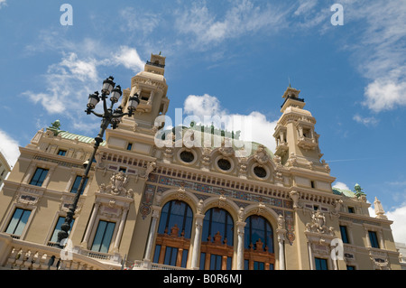
[[[267,219],[253,215],[245,220],[245,270],[273,270],[273,231]]]

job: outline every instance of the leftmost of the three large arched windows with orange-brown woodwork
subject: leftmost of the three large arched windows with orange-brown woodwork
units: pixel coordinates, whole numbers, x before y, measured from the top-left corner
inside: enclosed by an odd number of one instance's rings
[[[161,210],[153,262],[186,268],[193,213],[183,201],[172,200]]]

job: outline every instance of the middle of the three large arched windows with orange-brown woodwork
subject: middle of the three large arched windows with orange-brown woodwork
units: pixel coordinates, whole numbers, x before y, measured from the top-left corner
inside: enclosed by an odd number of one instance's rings
[[[203,220],[200,269],[231,270],[234,221],[225,209],[213,208]]]

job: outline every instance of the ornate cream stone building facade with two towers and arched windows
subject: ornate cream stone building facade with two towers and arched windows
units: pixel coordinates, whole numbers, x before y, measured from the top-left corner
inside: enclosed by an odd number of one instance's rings
[[[392,221],[379,200],[332,188],[316,119],[287,88],[272,153],[238,134],[183,127],[160,135],[169,108],[165,58],[131,79],[122,107],[140,104],[106,141],[80,191],[64,250],[58,231],[78,191],[94,139],[38,131],[0,193],[0,266],[5,269],[370,270],[400,269]],[[216,130],[216,131],[214,131]],[[167,131],[168,132],[168,131]],[[272,132],[269,132],[272,133]],[[164,145],[157,145],[157,135]],[[218,145],[213,144],[219,140]],[[205,138],[207,139],[207,138]],[[194,141],[194,140],[193,140]],[[193,142],[192,141],[192,142]],[[241,147],[248,146],[248,153]],[[244,150],[244,149],[243,149]],[[238,153],[238,155],[237,155]]]

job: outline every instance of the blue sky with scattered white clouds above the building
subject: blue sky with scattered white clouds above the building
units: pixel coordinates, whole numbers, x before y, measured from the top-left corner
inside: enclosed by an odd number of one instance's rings
[[[64,3],[72,25],[60,23]],[[331,23],[336,3],[343,25]],[[290,80],[336,184],[381,200],[406,243],[403,1],[0,0],[0,42],[0,149],[12,165],[16,147],[56,119],[97,135],[88,94],[109,75],[128,88],[161,51],[169,116],[252,116],[252,140],[271,149]]]

